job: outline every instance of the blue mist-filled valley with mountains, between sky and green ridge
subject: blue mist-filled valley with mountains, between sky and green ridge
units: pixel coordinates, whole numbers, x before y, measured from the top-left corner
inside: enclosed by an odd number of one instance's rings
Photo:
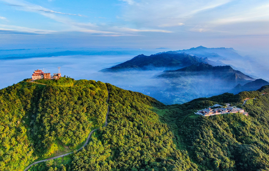
[[[14,51],[20,53],[14,55]],[[110,82],[126,90],[150,95],[165,104],[182,104],[199,97],[210,97],[225,92],[238,93],[244,90],[238,88],[240,85],[258,79],[257,73],[262,72],[258,69],[251,73],[246,72],[249,65],[245,66],[245,63],[248,63],[249,58],[240,56],[232,48],[200,46],[189,50],[161,52],[149,56],[141,54],[135,57],[132,55],[141,50],[54,52],[55,49],[52,49],[45,53],[40,50],[36,50],[35,53],[29,51],[33,50],[4,51],[5,55],[0,59],[1,70],[6,72],[1,76],[2,87],[30,77],[34,69],[45,68],[56,72],[57,66],[61,65],[62,73],[75,79]],[[144,50],[143,53],[150,54],[153,51],[159,49]],[[244,62],[240,67],[235,67],[236,63],[226,65],[223,62],[227,60],[220,61],[223,58],[238,63]],[[18,75],[14,76],[14,73]],[[267,78],[266,70],[263,76]],[[3,81],[5,79],[8,81]],[[258,82],[256,86],[245,90],[255,90],[265,84],[266,81]]]

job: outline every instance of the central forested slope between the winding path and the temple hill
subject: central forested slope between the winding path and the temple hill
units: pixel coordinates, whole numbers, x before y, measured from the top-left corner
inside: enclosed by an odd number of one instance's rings
[[[165,106],[142,93],[107,84],[110,113],[107,127],[93,135],[84,150],[56,167],[61,170],[197,170],[185,150],[178,150],[172,132],[149,110]],[[54,169],[40,163],[31,171]]]

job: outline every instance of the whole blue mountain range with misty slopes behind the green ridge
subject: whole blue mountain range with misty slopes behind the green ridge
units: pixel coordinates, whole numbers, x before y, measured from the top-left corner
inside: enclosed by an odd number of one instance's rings
[[[246,71],[242,69],[245,59],[233,48],[200,46],[150,56],[141,54],[99,73],[110,78],[108,81],[115,80],[115,85],[121,88],[151,95],[165,104],[180,104],[194,98],[257,90],[268,85],[258,77],[242,73]],[[235,63],[239,67],[222,62],[234,64],[233,60],[239,61]]]

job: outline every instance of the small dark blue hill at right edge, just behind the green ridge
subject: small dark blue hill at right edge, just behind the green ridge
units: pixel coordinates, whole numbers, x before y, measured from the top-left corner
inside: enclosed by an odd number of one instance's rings
[[[256,79],[255,81],[248,82],[245,85],[241,84],[236,85],[235,88],[231,90],[231,92],[237,94],[238,92],[242,91],[257,90],[264,85],[269,85],[269,82],[263,79]]]

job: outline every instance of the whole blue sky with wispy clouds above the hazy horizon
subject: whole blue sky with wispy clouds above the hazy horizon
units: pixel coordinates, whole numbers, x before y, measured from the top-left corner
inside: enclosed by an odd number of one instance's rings
[[[0,49],[266,51],[268,35],[268,0],[0,0]]]

